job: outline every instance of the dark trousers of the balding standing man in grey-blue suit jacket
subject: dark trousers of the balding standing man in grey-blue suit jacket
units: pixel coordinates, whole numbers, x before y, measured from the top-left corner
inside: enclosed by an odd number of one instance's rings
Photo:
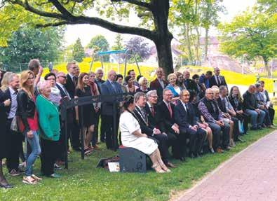
[[[106,146],[108,149],[116,150],[119,148],[118,131],[119,131],[119,118],[116,114],[116,127],[114,127],[114,116],[102,115],[102,122],[104,133],[106,135]],[[114,136],[114,132],[116,135]]]

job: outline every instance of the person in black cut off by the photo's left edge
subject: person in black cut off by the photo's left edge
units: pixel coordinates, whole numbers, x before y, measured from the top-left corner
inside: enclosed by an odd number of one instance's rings
[[[8,181],[6,181],[2,168],[2,159],[8,157],[8,145],[10,144],[8,143],[9,136],[6,127],[6,108],[10,105],[11,100],[6,99],[4,92],[0,90],[0,188],[12,188],[12,186],[8,184]]]

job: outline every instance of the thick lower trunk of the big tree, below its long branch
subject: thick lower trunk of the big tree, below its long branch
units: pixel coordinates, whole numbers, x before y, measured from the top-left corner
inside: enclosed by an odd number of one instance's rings
[[[167,78],[168,74],[174,72],[171,41],[172,39],[168,37],[161,37],[160,40],[155,42],[158,55],[158,67],[163,68],[165,78]]]

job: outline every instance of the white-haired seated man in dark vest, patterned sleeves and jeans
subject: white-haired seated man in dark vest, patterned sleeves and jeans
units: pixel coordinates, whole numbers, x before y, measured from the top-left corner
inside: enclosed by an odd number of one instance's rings
[[[222,111],[220,111],[217,102],[213,100],[211,88],[205,91],[205,97],[200,100],[198,110],[201,112],[205,121],[212,129],[212,146],[217,153],[229,150],[229,131],[230,126],[223,121]],[[222,148],[220,148],[220,131],[222,131]]]

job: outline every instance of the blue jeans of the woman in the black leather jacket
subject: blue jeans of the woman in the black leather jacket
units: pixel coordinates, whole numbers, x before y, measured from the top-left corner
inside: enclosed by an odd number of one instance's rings
[[[26,133],[26,138],[29,143],[29,146],[32,149],[32,152],[27,155],[26,170],[25,175],[31,176],[33,174],[33,165],[36,161],[36,158],[41,154],[41,146],[39,145],[39,134],[36,131],[32,130],[33,137],[28,138]]]

